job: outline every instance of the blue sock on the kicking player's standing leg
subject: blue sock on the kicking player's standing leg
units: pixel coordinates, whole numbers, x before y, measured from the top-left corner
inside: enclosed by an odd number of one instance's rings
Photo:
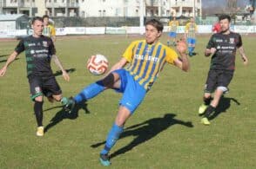
[[[111,127],[111,131],[108,134],[106,143],[104,145],[104,149],[100,152],[101,154],[107,154],[111,151],[111,147],[114,146],[120,136],[123,133],[124,127],[119,127],[118,125],[114,124]]]

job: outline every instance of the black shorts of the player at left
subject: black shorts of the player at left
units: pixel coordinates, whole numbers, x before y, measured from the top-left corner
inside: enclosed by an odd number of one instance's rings
[[[52,77],[40,77],[33,76],[29,77],[30,83],[30,98],[34,100],[39,95],[45,95],[51,97],[51,95],[62,94],[61,88],[57,84],[54,76]]]

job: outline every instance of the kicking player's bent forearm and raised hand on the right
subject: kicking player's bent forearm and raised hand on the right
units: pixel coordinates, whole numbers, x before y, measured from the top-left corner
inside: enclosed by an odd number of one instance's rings
[[[190,68],[190,64],[188,61],[188,57],[186,52],[186,44],[184,40],[181,40],[177,43],[176,49],[179,52],[180,58],[174,60],[175,66],[182,69],[183,71],[187,72]]]

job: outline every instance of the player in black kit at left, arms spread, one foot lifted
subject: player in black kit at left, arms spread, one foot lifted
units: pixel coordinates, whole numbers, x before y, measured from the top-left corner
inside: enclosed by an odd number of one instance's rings
[[[30,83],[30,99],[34,101],[34,112],[37,119],[37,136],[44,135],[43,126],[43,103],[45,95],[49,101],[62,101],[66,104],[66,98],[62,97],[62,91],[51,70],[51,58],[61,69],[65,81],[70,76],[63,68],[56,55],[56,49],[50,37],[43,36],[43,18],[32,19],[33,35],[22,39],[14,52],[9,56],[7,62],[0,69],[0,76],[5,75],[7,67],[13,62],[17,55],[25,51],[27,62],[27,77]]]

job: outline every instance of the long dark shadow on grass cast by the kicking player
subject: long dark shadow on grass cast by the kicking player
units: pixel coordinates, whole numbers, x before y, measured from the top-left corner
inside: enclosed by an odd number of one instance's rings
[[[147,140],[151,140],[153,137],[157,136],[158,133],[165,131],[168,127],[172,125],[183,125],[185,127],[193,127],[191,121],[183,121],[174,119],[176,114],[165,114],[164,117],[152,118],[150,120],[145,120],[142,123],[137,125],[133,125],[131,127],[126,127],[124,133],[121,134],[120,139],[129,137],[129,136],[137,136],[134,140],[131,141],[130,144],[120,148],[118,151],[111,153],[111,158],[114,158],[122,153],[129,152],[133,147],[138,146],[144,143]],[[99,142],[91,147],[95,148],[101,146],[105,143]]]

